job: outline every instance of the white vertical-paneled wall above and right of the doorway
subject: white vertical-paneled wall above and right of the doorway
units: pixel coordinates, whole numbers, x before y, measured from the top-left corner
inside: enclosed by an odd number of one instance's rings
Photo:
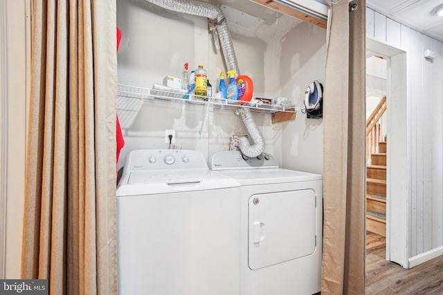
[[[367,37],[406,51],[410,267],[443,254],[443,44],[367,8]],[[424,58],[432,50],[435,59]],[[389,138],[388,138],[389,142]],[[393,167],[395,169],[395,167]]]

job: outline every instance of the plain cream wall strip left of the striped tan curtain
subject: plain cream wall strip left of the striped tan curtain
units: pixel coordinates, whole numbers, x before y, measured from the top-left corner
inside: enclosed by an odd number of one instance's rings
[[[30,1],[1,1],[0,16],[0,278],[19,278],[30,70]]]

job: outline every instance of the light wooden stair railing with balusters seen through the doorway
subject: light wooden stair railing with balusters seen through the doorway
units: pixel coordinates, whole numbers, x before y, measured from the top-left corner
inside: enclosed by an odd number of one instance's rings
[[[366,162],[370,162],[371,153],[377,153],[377,146],[381,141],[381,116],[386,111],[386,96],[374,108],[366,120]]]

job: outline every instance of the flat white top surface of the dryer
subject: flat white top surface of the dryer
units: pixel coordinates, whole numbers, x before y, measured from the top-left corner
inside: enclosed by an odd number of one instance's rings
[[[322,176],[314,173],[289,169],[254,169],[254,170],[224,170],[223,173],[235,178],[242,185],[274,184],[284,182],[302,182],[322,180]]]

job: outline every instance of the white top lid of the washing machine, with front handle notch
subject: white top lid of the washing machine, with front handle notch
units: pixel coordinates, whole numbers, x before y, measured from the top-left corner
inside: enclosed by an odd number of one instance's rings
[[[182,191],[203,191],[239,187],[237,180],[216,171],[133,171],[127,181],[120,181],[117,196],[141,196]]]

